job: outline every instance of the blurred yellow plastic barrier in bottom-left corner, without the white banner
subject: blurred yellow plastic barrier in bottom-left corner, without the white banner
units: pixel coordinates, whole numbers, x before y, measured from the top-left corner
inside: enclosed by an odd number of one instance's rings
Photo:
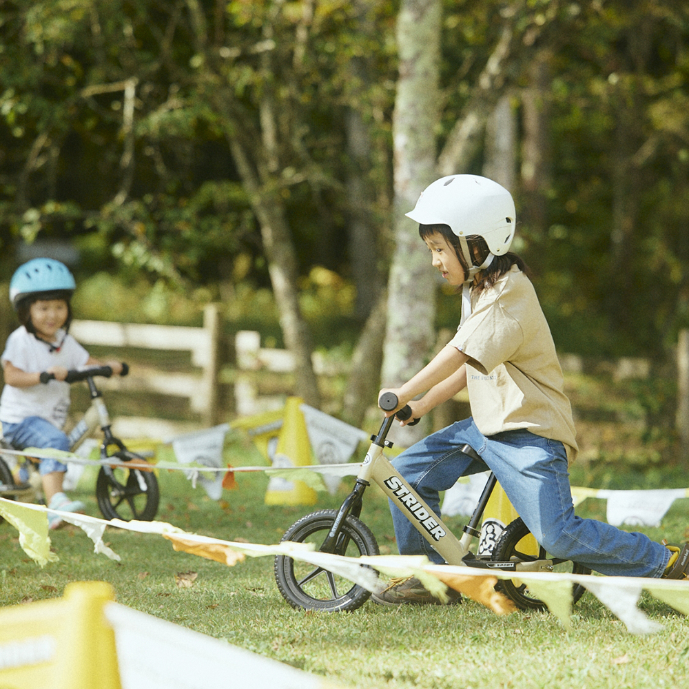
[[[0,610],[0,689],[121,689],[105,582],[74,582],[61,599]]]

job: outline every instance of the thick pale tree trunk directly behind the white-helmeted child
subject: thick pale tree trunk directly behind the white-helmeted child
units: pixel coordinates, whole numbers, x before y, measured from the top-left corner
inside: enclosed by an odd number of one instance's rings
[[[417,226],[404,214],[437,176],[441,19],[440,0],[402,0],[397,22],[400,74],[393,114],[395,251],[382,366],[387,386],[409,380],[421,369],[435,340],[433,269]],[[412,427],[415,437],[423,435],[421,425]]]

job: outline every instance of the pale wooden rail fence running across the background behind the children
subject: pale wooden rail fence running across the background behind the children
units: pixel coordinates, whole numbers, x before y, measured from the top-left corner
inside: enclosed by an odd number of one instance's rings
[[[287,374],[294,370],[294,358],[284,349],[260,346],[260,333],[239,331],[234,336],[232,360],[221,360],[222,328],[216,305],[209,305],[203,314],[203,327],[139,325],[90,320],[75,320],[71,332],[77,340],[88,345],[105,347],[139,347],[145,349],[190,351],[191,361],[199,371],[163,373],[154,367],[136,365],[127,378],[108,381],[114,389],[129,392],[159,393],[189,399],[189,407],[198,413],[200,424],[212,426],[226,419],[218,418],[220,387],[232,385],[232,413],[243,416],[277,409],[285,395],[291,393],[288,384],[273,389],[271,394],[260,390],[260,373]],[[566,371],[585,371],[586,360],[579,356],[561,356]],[[347,364],[333,363],[320,353],[313,355],[313,367],[318,376],[346,373]],[[621,358],[614,362],[599,362],[597,372],[606,371],[615,380],[648,378],[652,375],[650,361],[642,358]],[[225,376],[220,376],[225,371]],[[232,371],[227,375],[227,371]],[[279,387],[279,386],[278,386]],[[275,388],[275,386],[274,386]],[[223,410],[227,411],[227,410]],[[677,418],[675,427],[681,438],[685,456],[689,456],[689,329],[679,333],[677,345]]]

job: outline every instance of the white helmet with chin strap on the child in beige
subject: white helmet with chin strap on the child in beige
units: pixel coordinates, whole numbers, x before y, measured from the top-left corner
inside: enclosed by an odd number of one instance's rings
[[[469,278],[491,265],[494,256],[506,254],[515,236],[517,212],[510,192],[497,182],[473,174],[441,177],[431,183],[407,217],[420,225],[448,225],[457,235],[469,265]],[[486,240],[490,254],[480,266],[466,241],[470,236]]]

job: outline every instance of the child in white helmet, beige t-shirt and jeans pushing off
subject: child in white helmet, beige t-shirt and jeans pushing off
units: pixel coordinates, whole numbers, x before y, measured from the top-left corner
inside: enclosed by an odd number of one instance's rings
[[[531,533],[554,557],[606,575],[686,579],[689,544],[665,546],[574,513],[567,470],[577,453],[572,411],[526,266],[509,251],[516,224],[509,192],[484,177],[451,175],[429,185],[407,216],[420,223],[433,267],[450,285],[462,287],[462,318],[438,355],[392,389],[397,409],[409,404],[412,410],[402,425],[464,387],[472,416],[402,452],[394,462],[398,471],[440,515],[439,491],[460,476],[491,469]],[[483,462],[460,451],[466,443]],[[398,508],[391,505],[391,512],[400,553],[444,562]],[[450,602],[459,599],[449,593]],[[440,603],[415,577],[373,600]]]

